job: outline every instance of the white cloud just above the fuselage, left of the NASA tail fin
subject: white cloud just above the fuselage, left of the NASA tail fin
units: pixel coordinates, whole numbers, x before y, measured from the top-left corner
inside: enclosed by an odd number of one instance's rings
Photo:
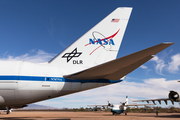
[[[28,61],[28,62],[33,62],[33,63],[43,63],[43,62],[48,62],[54,56],[55,54],[46,53],[43,50],[31,50],[29,53],[25,53],[23,55],[16,56],[16,57],[6,53],[3,58],[0,58],[0,60]]]

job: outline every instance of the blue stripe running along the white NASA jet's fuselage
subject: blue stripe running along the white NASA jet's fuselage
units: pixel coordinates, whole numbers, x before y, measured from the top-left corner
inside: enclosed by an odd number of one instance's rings
[[[122,80],[107,80],[107,79],[94,79],[94,80],[70,80],[63,77],[40,77],[40,76],[0,76],[0,80],[20,80],[20,81],[46,81],[47,82],[81,82],[81,83],[117,83]]]

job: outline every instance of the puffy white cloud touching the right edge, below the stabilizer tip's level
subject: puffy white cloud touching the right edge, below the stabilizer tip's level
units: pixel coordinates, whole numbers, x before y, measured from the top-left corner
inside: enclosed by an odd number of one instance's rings
[[[169,63],[168,66],[168,71],[170,73],[176,73],[179,71],[179,66],[180,66],[180,54],[173,55],[171,57],[172,61]]]

